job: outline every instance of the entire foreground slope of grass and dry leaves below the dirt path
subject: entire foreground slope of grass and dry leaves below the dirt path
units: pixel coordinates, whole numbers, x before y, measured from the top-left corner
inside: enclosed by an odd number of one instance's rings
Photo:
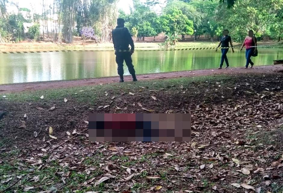
[[[281,74],[6,94],[0,192],[281,193],[282,96]],[[89,113],[189,111],[191,142],[88,141]]]

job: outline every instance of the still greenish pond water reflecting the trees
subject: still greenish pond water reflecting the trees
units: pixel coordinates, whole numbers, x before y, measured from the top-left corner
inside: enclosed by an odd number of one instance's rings
[[[283,59],[281,48],[262,48],[258,52],[252,57],[254,66],[272,65],[273,60]],[[234,53],[229,50],[227,57],[230,67],[244,67],[245,49],[235,49]],[[132,59],[137,74],[218,68],[221,50],[137,50]],[[125,63],[124,71],[129,75]],[[107,76],[117,76],[114,51],[0,54],[0,84]]]

